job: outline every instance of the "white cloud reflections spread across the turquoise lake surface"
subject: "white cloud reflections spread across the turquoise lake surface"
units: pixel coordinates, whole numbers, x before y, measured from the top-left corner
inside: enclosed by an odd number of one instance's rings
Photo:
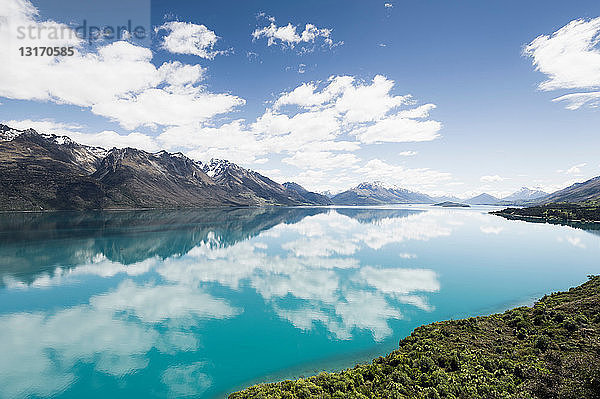
[[[274,220],[259,213],[260,221],[242,215],[238,232],[217,231],[218,224],[211,229],[210,223],[198,230],[186,223],[184,231],[159,229],[155,245],[145,239],[156,228],[146,230],[142,223],[138,239],[111,238],[107,245],[99,234],[85,240],[83,249],[66,248],[69,261],[84,254],[80,264],[4,275],[5,289],[12,290],[59,289],[85,276],[124,280],[82,305],[0,316],[0,353],[8,354],[0,359],[0,397],[60,392],[76,380],[80,363],[123,377],[146,368],[153,348],[164,354],[197,351],[199,337],[189,327],[202,319],[235,318],[244,309],[232,306],[230,298],[249,288],[263,298],[266,312],[298,329],[323,326],[332,339],[342,340],[357,331],[369,332],[375,341],[389,337],[388,323],[403,318],[403,307],[432,310],[427,295],[440,290],[438,276],[406,267],[413,256],[398,256],[398,267],[382,267],[365,264],[360,252],[448,236],[452,225],[429,212],[353,211],[309,211],[302,217],[277,211],[270,215]],[[165,242],[172,245],[168,255],[169,245],[160,246]],[[147,257],[136,251],[147,251]],[[115,260],[115,253],[127,253],[130,262]],[[220,298],[205,289],[207,284],[233,291]],[[211,384],[203,367],[170,366],[161,380],[171,394],[184,395],[186,379],[193,379],[202,387],[190,394],[200,394]]]

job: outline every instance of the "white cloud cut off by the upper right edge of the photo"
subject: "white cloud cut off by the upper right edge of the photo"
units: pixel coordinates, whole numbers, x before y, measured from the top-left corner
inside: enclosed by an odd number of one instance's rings
[[[540,35],[529,43],[524,54],[532,58],[537,71],[548,79],[541,90],[600,88],[600,17],[576,19],[551,35]],[[597,106],[600,92],[571,93],[554,99],[568,109]]]

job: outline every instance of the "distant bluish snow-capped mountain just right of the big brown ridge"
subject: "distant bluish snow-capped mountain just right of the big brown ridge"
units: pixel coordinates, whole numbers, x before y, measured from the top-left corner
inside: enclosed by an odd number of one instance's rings
[[[431,204],[426,194],[399,187],[387,187],[379,182],[361,183],[331,198],[335,205]]]

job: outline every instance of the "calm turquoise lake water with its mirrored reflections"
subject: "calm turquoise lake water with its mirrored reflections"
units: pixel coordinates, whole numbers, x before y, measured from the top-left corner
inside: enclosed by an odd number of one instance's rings
[[[600,271],[600,235],[488,208],[0,215],[0,398],[223,397]]]

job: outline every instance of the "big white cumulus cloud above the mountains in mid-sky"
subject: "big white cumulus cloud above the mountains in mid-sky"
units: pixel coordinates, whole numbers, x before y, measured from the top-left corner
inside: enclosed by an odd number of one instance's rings
[[[332,76],[281,93],[254,122],[174,126],[158,141],[167,149],[184,148],[200,160],[227,158],[248,164],[268,154],[284,154],[284,163],[303,171],[295,180],[307,177],[302,173],[309,170],[314,174],[319,169],[356,168],[362,160],[353,152],[362,144],[429,141],[439,136],[441,124],[428,119],[435,106],[414,106],[410,95],[391,93],[394,85],[381,75],[368,82]]]

